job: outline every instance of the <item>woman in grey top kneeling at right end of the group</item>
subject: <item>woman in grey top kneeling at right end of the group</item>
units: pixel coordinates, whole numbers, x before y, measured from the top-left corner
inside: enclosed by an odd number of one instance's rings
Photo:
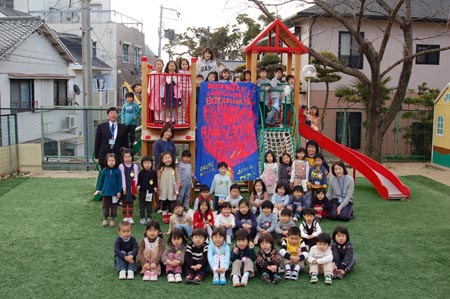
[[[332,220],[349,221],[353,218],[353,191],[355,181],[348,175],[344,162],[338,161],[331,166],[327,197],[331,200],[330,214]]]

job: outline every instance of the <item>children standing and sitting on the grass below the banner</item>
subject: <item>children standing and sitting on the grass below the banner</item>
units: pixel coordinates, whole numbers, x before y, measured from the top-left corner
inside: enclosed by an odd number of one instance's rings
[[[152,170],[151,158],[143,157],[137,179],[131,153],[124,151],[119,167],[114,156],[108,156],[98,190],[104,201],[103,225],[108,225],[108,216],[112,217],[109,225],[114,225],[117,199],[122,204],[124,221],[115,244],[119,279],[133,279],[137,265],[143,280],[156,281],[162,264],[168,282],[181,282],[184,274],[186,283],[199,284],[212,272],[213,284],[226,284],[225,273],[231,264],[233,286],[246,286],[255,266],[264,282],[279,283],[282,271],[285,279],[297,280],[305,262],[311,283],[318,281],[321,272],[327,284],[333,277],[342,278],[354,265],[353,247],[345,227],[336,227],[332,238],[322,232],[320,219],[326,218],[328,210],[327,170],[321,154],[314,155],[312,165],[307,155],[310,153],[299,148],[293,162],[284,153],[277,163],[274,154],[267,152],[264,171],[255,180],[249,200],[242,197],[239,185],[232,183],[228,165],[220,162],[211,186],[200,186],[193,213],[188,211],[189,192],[179,196],[183,184],[189,184],[188,190],[192,188],[192,168],[179,171],[170,152],[161,155],[157,171]],[[181,163],[190,165],[189,158],[190,153],[184,151]],[[131,237],[137,192],[140,222],[146,225],[139,247]],[[167,216],[163,219],[169,218],[167,245],[159,223],[151,216],[156,192]],[[303,221],[297,226],[300,219]],[[231,247],[233,237],[235,245]],[[281,246],[279,250],[277,246]]]

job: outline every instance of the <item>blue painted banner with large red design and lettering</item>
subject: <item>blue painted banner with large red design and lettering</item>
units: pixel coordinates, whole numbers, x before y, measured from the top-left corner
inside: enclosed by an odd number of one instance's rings
[[[195,174],[211,186],[226,162],[231,181],[254,180],[258,173],[258,87],[253,83],[200,84]]]

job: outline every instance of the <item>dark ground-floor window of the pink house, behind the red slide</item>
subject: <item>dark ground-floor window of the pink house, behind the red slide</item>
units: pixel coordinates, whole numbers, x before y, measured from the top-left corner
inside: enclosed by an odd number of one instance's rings
[[[336,141],[350,148],[361,148],[361,112],[336,112]]]

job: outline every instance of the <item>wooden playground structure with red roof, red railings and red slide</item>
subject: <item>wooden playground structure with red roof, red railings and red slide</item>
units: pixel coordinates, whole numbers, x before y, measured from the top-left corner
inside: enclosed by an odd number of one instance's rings
[[[305,124],[302,116],[297,116],[300,110],[300,55],[307,53],[307,49],[289,31],[289,29],[277,19],[267,26],[247,47],[246,65],[251,70],[252,82],[256,82],[257,57],[259,53],[285,53],[287,54],[287,74],[292,73],[293,54],[295,54],[295,84],[293,92],[282,100],[282,107],[287,113],[282,114],[281,127],[264,126],[264,105],[260,106],[260,126],[258,129],[258,145],[260,166],[267,150],[274,150],[276,154],[281,151],[295,153],[297,144],[300,144],[300,136],[307,139],[315,139],[319,145],[350,164],[355,170],[361,172],[376,188],[384,199],[410,198],[410,191],[400,179],[380,163],[364,156],[363,154],[343,146],[323,134],[314,131]],[[176,144],[188,144],[191,153],[195,153],[196,130],[196,59],[191,60],[191,74],[155,74],[151,73],[152,66],[147,63],[147,57],[142,57],[142,131],[141,153],[152,155],[152,146],[160,138],[161,128],[166,121],[172,122],[175,128],[173,141]],[[169,78],[169,79],[168,79]],[[175,78],[175,79],[173,79]],[[183,85],[190,78],[190,83]],[[156,83],[155,83],[156,82]],[[181,89],[175,90],[173,86],[165,91],[158,82],[173,82]],[[232,83],[239,84],[239,83]],[[188,87],[187,87],[188,86]],[[162,93],[178,93],[181,103],[165,102],[161,105]],[[265,91],[264,97],[268,94]],[[173,96],[171,94],[171,96]],[[160,101],[159,105],[155,100]],[[152,103],[153,101],[153,103]],[[167,100],[166,100],[167,101]],[[191,164],[195,168],[195,155]]]

